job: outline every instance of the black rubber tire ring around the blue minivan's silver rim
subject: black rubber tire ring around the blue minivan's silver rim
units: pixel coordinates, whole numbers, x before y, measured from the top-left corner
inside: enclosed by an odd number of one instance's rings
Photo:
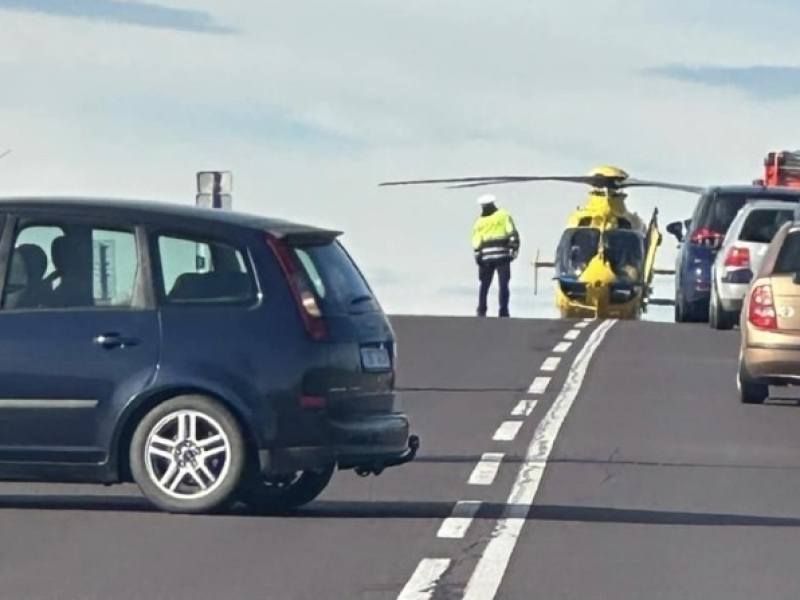
[[[162,490],[154,481],[145,456],[148,438],[154,428],[160,427],[167,417],[181,410],[194,411],[202,419],[210,419],[218,427],[223,440],[227,441],[227,460],[222,467],[224,473],[221,479],[212,484],[211,492],[195,498],[176,498]],[[202,428],[205,430],[205,425]],[[227,507],[241,483],[247,463],[247,446],[238,422],[228,409],[206,396],[177,396],[156,406],[136,427],[129,452],[133,479],[142,494],[161,510],[172,513],[211,513]],[[214,461],[213,458],[210,460]],[[208,466],[207,463],[204,464]],[[187,479],[186,475],[181,477],[181,481],[184,479]]]

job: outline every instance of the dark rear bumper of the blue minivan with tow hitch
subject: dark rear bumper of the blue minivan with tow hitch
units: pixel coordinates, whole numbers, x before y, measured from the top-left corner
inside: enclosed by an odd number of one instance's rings
[[[327,424],[328,444],[260,449],[261,472],[265,475],[293,473],[336,462],[339,469],[377,475],[416,458],[419,437],[409,435],[410,426],[404,414],[331,419]]]

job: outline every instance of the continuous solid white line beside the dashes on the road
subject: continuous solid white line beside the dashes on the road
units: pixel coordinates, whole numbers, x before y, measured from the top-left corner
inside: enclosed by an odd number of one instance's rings
[[[467,582],[462,600],[494,600],[497,595],[514,546],[539,490],[558,432],[578,396],[592,356],[614,323],[616,319],[604,321],[589,336],[569,369],[564,387],[536,428],[503,514]]]

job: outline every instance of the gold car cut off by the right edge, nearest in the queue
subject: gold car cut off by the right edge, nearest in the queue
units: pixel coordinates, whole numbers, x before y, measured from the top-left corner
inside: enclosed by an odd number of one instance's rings
[[[767,248],[739,320],[736,384],[746,404],[761,404],[769,385],[800,384],[800,221],[784,224]]]

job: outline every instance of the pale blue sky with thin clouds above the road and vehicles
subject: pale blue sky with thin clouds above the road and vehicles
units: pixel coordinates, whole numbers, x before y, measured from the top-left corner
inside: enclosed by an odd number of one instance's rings
[[[796,1],[498,6],[0,0],[4,193],[193,202],[197,170],[231,169],[236,208],[344,229],[388,309],[471,314],[474,191],[379,181],[616,163],[748,182],[767,151],[800,146]],[[496,192],[523,236],[515,312],[530,314],[527,262],[552,255],[584,190]],[[666,224],[693,201],[630,204]],[[673,256],[667,241],[660,262]]]

